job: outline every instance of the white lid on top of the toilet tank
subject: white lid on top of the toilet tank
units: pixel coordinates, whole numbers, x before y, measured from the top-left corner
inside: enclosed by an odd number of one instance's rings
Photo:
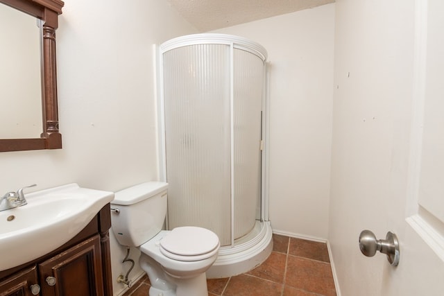
[[[168,183],[165,182],[145,182],[117,191],[114,193],[114,200],[112,200],[111,204],[135,204],[142,200],[146,200],[146,198],[151,198],[162,191],[166,191],[167,189]]]

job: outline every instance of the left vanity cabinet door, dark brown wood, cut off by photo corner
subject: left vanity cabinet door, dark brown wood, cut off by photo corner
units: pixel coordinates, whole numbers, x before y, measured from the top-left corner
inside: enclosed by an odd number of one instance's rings
[[[34,286],[35,293],[31,293],[33,285],[37,285],[37,268],[33,266],[21,272],[17,272],[15,275],[7,277],[3,281],[0,281],[0,296],[28,296],[28,295],[40,295],[38,293],[38,286]]]

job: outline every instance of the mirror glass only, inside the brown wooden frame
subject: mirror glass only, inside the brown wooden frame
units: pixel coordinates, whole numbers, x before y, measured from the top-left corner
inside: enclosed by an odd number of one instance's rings
[[[0,139],[39,137],[42,112],[35,110],[42,109],[41,20],[3,4],[0,19],[8,24],[0,26],[1,39],[8,40],[0,46],[0,98],[4,106],[0,108]]]

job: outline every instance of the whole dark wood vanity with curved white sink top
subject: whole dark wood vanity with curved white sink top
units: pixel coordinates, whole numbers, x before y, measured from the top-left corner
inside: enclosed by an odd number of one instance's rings
[[[67,184],[0,211],[0,296],[112,296],[113,199],[108,191]]]

